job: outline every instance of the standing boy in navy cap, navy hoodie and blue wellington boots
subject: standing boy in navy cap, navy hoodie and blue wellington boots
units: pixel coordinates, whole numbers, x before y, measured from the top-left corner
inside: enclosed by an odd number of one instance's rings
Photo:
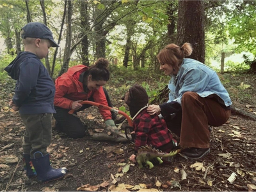
[[[53,40],[50,29],[40,22],[30,22],[22,27],[20,34],[24,52],[4,68],[16,80],[10,105],[13,110],[19,110],[26,126],[22,144],[26,174],[29,178],[37,175],[39,181],[48,182],[60,179],[67,171],[66,168],[53,169],[49,161],[47,147],[51,144],[55,87],[40,61],[48,54],[49,47],[59,45]]]

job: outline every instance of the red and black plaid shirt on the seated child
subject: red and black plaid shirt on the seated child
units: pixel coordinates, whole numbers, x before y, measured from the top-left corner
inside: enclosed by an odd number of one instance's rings
[[[133,121],[135,131],[134,149],[145,145],[152,145],[158,149],[159,147],[172,142],[172,133],[168,131],[166,122],[160,119],[157,114],[149,115],[147,108],[143,109]]]

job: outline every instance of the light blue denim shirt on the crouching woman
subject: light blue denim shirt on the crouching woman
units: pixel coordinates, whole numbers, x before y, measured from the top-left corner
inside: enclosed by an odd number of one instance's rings
[[[173,75],[168,84],[169,100],[181,103],[182,95],[187,91],[196,92],[200,97],[214,97],[226,107],[232,105],[229,94],[221,84],[217,73],[195,59],[183,59],[177,75]]]

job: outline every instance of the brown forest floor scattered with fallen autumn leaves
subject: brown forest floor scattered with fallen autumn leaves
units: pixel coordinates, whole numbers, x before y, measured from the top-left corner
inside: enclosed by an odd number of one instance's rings
[[[220,75],[230,92],[234,106],[255,115],[256,75]],[[127,82],[125,79],[124,82]],[[150,86],[152,80],[144,79]],[[120,100],[122,92],[116,90],[125,83],[109,80],[109,94],[114,107],[124,105]],[[131,82],[134,82],[132,80]],[[140,84],[140,81],[136,81]],[[167,81],[166,81],[167,83]],[[153,84],[153,83],[152,83]],[[127,84],[125,84],[127,85]],[[250,87],[249,87],[250,85]],[[211,152],[198,160],[184,159],[177,154],[172,164],[157,165],[151,170],[131,164],[129,156],[132,146],[129,142],[92,140],[90,136],[72,139],[52,131],[52,166],[65,166],[67,175],[60,181],[42,184],[29,180],[23,171],[22,136],[24,124],[19,113],[8,107],[14,84],[0,85],[0,191],[254,191],[256,188],[256,121],[232,114],[227,123],[211,131]],[[157,85],[156,85],[157,86]],[[124,87],[124,86],[123,86]],[[118,92],[118,93],[117,93]],[[91,107],[79,113],[90,129],[100,131],[104,123],[98,109]],[[255,115],[256,117],[256,115]],[[186,172],[181,181],[180,172]],[[227,181],[232,173],[236,180]],[[77,189],[80,188],[80,189]],[[254,189],[254,190],[253,190]]]

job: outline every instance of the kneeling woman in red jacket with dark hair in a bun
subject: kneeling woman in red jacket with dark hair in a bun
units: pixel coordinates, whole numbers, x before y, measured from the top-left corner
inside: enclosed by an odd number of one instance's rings
[[[99,58],[92,66],[77,65],[68,69],[55,81],[56,93],[54,96],[54,108],[56,114],[56,128],[72,138],[81,138],[87,129],[83,122],[74,115],[68,114],[73,109],[84,110],[92,105],[81,105],[83,100],[94,101],[102,105],[112,107],[108,92],[102,86],[109,80],[108,60]],[[115,127],[113,115],[109,110],[99,108],[106,126]],[[75,112],[75,114],[76,114]]]

